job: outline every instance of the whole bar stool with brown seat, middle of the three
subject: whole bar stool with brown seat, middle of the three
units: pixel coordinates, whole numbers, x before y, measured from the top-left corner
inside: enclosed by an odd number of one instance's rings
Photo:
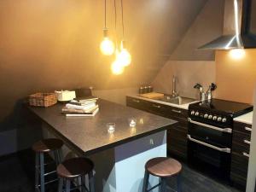
[[[59,192],[70,192],[70,190],[73,189],[79,189],[82,192],[95,192],[93,169],[93,162],[84,157],[72,158],[63,161],[57,167],[57,173],[59,176]],[[89,189],[87,189],[85,184],[86,175],[88,175],[89,178]],[[75,180],[78,182],[76,183],[76,186],[71,189],[71,182],[75,182]]]

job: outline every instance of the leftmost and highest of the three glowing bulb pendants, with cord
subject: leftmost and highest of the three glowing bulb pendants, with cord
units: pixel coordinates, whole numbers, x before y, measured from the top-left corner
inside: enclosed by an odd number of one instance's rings
[[[103,29],[103,40],[100,48],[103,55],[113,55],[114,44],[113,41],[108,37],[107,28],[107,0],[105,0],[105,27]]]

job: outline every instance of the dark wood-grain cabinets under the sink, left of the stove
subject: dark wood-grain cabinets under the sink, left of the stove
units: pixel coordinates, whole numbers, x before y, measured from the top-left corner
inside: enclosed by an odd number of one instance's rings
[[[148,113],[154,113],[177,121],[172,128],[167,130],[167,150],[168,153],[177,159],[187,159],[187,133],[188,133],[188,111],[175,108],[157,102],[148,102],[126,96],[126,105],[137,108]]]

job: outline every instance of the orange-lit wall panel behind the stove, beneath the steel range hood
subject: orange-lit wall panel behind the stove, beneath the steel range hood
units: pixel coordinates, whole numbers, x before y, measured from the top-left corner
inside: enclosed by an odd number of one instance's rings
[[[256,84],[256,49],[246,49],[241,59],[234,59],[230,51],[216,51],[216,82],[218,98],[253,103]]]

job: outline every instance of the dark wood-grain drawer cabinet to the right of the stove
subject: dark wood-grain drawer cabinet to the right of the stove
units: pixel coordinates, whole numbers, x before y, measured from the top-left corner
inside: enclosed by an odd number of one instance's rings
[[[251,131],[252,125],[234,122],[230,178],[234,184],[240,185],[243,189],[247,184]]]

